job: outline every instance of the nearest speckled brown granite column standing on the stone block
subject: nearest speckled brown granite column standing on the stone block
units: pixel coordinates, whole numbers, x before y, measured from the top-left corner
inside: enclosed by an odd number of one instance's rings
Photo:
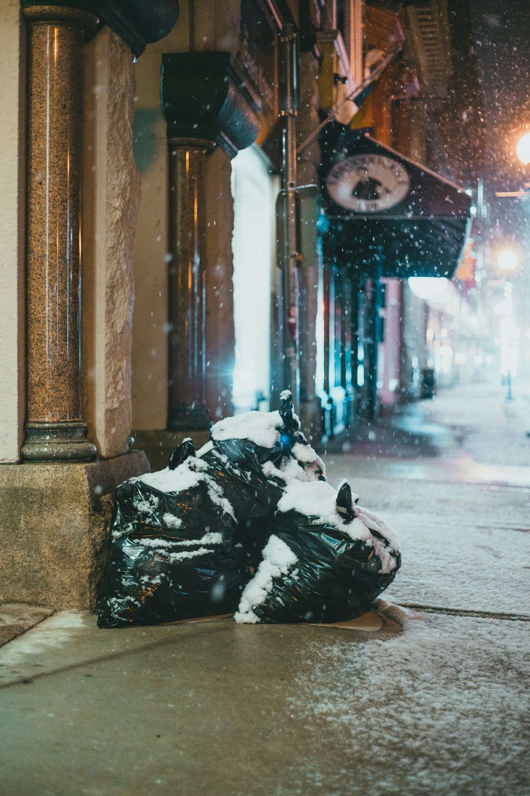
[[[83,460],[81,194],[83,37],[97,19],[60,6],[24,9],[29,25],[27,439],[25,459]]]

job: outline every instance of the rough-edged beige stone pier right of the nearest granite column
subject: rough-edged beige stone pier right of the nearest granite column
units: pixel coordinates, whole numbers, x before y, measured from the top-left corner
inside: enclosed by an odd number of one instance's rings
[[[109,28],[85,56],[83,362],[89,436],[128,448],[132,423],[133,252],[140,181],[133,160],[133,58]]]

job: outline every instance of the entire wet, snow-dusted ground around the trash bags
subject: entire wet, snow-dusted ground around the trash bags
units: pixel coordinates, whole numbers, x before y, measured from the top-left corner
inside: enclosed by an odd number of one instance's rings
[[[530,392],[475,385],[328,445],[400,535],[350,626],[231,618],[0,650],[5,796],[527,796]],[[23,750],[23,753],[21,753]]]

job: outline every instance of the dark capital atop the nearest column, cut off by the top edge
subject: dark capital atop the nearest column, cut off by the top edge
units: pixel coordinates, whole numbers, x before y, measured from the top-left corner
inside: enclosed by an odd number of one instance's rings
[[[179,18],[178,0],[21,0],[21,6],[28,19],[42,9],[43,21],[55,18],[49,15],[61,10],[91,14],[118,33],[136,57],[149,42],[167,36]]]

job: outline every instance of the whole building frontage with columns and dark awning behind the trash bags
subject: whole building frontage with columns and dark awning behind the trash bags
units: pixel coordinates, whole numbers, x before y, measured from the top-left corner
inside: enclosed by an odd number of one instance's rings
[[[432,107],[447,2],[10,0],[2,26],[0,596],[87,607],[115,486],[184,436],[287,387],[314,442],[423,394],[442,327],[407,279],[454,273],[470,204]]]

